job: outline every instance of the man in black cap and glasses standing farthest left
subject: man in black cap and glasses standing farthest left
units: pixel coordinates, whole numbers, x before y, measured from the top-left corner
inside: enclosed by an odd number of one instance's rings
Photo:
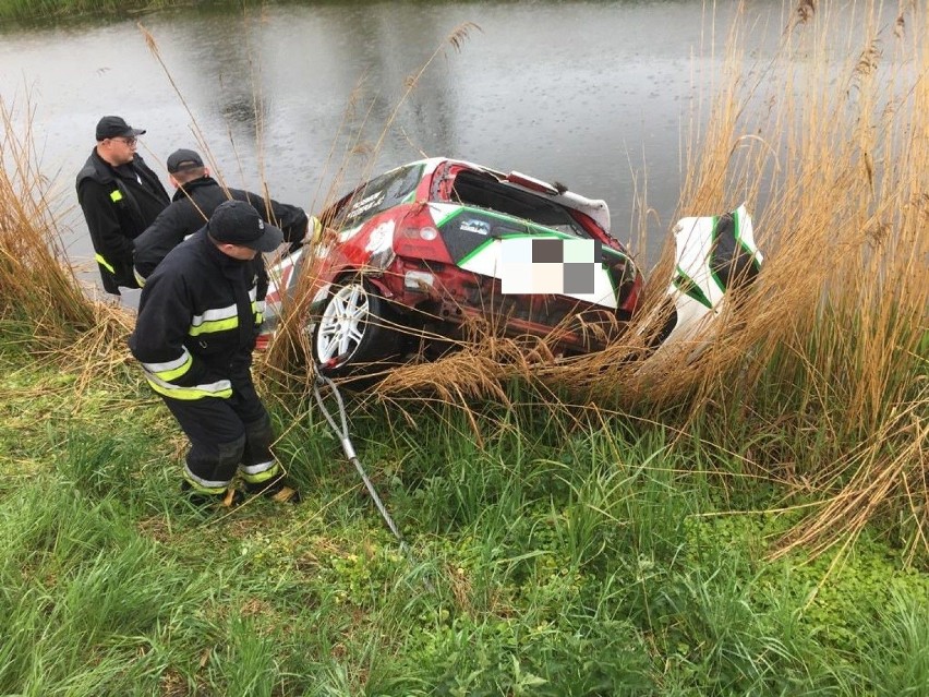
[[[97,145],[77,172],[77,203],[84,211],[104,289],[138,288],[132,271],[133,240],[170,203],[168,192],[136,154],[143,129],[121,117],[97,123]]]

